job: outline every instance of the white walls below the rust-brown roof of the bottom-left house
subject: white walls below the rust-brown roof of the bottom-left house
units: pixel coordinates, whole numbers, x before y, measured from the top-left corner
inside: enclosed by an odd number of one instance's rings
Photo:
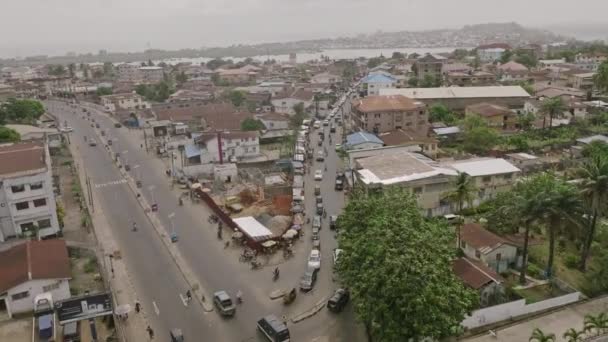
[[[44,291],[43,287],[58,284],[59,287],[51,291]],[[12,296],[17,293],[28,291],[28,296],[13,300]],[[41,279],[32,280],[23,284],[17,285],[8,290],[5,297],[6,307],[9,315],[14,315],[23,312],[34,310],[34,298],[44,292],[50,292],[53,295],[53,302],[70,298],[70,283],[67,280],[58,279]]]

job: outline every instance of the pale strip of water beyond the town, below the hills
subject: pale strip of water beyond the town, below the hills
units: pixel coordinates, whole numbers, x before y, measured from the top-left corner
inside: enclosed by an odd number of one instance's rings
[[[319,60],[322,56],[327,56],[330,59],[355,59],[359,57],[372,58],[379,57],[383,55],[385,57],[390,57],[393,52],[401,52],[403,54],[425,54],[425,53],[443,53],[443,52],[452,52],[455,47],[442,47],[442,48],[385,48],[385,49],[327,49],[321,52],[315,53],[298,53],[297,61],[298,63],[308,62],[312,60]],[[471,48],[466,48],[471,49]],[[251,57],[254,60],[263,62],[267,59],[274,59],[278,62],[287,62],[289,61],[289,55],[270,55],[270,56],[253,56]],[[178,64],[178,63],[187,63],[190,62],[192,64],[201,64],[202,62],[207,63],[213,58],[206,57],[198,57],[198,58],[170,58],[165,60],[157,60],[157,62],[165,62],[167,64]],[[224,57],[224,59],[232,59],[235,62],[240,62],[245,59],[245,57]]]

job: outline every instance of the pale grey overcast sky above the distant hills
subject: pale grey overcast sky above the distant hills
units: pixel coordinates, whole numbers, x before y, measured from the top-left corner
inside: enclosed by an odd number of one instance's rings
[[[148,43],[199,48],[486,22],[605,23],[606,13],[607,0],[1,0],[0,56],[141,51]]]

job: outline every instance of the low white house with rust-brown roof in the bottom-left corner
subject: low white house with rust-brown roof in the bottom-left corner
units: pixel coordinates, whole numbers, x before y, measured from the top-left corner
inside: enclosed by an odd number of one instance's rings
[[[70,298],[70,278],[64,240],[26,241],[0,252],[0,316],[33,311],[42,293],[54,302]]]

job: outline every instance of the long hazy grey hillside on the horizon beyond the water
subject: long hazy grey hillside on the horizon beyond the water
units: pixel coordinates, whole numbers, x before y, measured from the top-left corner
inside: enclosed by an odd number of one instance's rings
[[[104,55],[37,56],[20,61],[0,60],[0,65],[68,64],[106,61],[116,63],[146,61],[148,59],[195,57],[252,57],[260,55],[284,55],[291,52],[318,52],[325,49],[475,47],[486,43],[508,43],[511,46],[518,46],[527,43],[545,44],[567,39],[567,37],[546,30],[526,28],[517,23],[489,23],[467,25],[458,30],[375,32],[353,37],[251,45],[239,44],[228,47],[182,49],[177,51],[148,50],[144,52],[117,52]]]

